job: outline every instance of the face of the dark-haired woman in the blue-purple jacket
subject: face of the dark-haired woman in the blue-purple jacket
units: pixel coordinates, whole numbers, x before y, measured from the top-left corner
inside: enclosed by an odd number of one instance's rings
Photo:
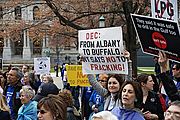
[[[133,86],[131,84],[125,85],[121,95],[123,106],[134,107],[135,98],[136,95]]]

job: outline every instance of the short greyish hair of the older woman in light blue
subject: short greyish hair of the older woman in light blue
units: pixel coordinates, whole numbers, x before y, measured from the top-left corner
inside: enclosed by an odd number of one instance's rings
[[[35,91],[32,89],[31,86],[29,85],[25,85],[25,86],[22,86],[22,89],[20,90],[20,94],[21,93],[24,93],[28,98],[33,98],[35,96]]]

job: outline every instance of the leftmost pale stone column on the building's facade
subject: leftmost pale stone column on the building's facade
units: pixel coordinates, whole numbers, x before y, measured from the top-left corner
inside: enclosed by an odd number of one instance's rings
[[[11,60],[11,42],[10,37],[5,37],[3,47],[3,60]]]

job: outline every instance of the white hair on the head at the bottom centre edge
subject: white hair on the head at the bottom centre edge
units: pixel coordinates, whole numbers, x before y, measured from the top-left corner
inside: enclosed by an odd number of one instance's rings
[[[101,120],[118,120],[118,118],[109,111],[101,111],[96,114],[93,114],[92,120],[101,119]]]

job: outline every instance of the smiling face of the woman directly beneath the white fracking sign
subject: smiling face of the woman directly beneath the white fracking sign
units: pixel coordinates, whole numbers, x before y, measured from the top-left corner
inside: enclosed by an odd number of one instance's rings
[[[116,93],[119,91],[120,85],[116,78],[111,77],[108,80],[108,90],[110,93]]]

